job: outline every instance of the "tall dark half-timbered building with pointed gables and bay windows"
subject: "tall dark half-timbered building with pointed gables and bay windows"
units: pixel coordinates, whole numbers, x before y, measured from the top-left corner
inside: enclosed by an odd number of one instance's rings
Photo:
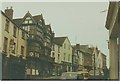
[[[50,25],[45,25],[41,15],[32,16],[28,11],[23,18],[14,22],[28,32],[27,70],[28,79],[51,75],[54,59],[50,57],[53,33]]]

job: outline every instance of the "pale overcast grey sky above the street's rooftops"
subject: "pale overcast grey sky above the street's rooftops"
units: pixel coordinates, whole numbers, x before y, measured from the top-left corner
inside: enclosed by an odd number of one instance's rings
[[[21,18],[28,11],[32,15],[42,14],[55,36],[68,36],[71,44],[97,46],[107,55],[108,63],[109,33],[105,28],[108,5],[108,2],[4,2],[2,10],[12,6],[14,18]]]

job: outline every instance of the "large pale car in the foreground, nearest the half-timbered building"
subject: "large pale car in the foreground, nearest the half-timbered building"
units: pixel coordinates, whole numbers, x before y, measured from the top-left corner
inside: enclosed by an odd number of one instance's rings
[[[79,71],[79,72],[64,72],[64,73],[62,73],[60,79],[72,79],[72,80],[87,79],[88,75],[89,75],[88,72],[83,72],[83,71]]]

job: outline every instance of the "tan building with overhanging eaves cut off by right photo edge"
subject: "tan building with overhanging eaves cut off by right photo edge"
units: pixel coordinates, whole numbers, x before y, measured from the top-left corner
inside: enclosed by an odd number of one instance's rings
[[[110,53],[110,79],[118,79],[120,70],[120,2],[110,2],[106,19],[106,29],[109,30],[108,48]]]

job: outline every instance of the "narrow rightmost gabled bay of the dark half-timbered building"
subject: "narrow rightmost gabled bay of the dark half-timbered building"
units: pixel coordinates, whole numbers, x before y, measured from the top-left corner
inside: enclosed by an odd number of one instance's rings
[[[51,51],[52,51],[52,44],[53,44],[53,38],[54,38],[54,32],[52,32],[51,25],[45,25],[44,27],[44,52],[45,55],[47,55],[47,59],[49,63],[47,64],[47,69],[49,71],[49,75],[52,75],[53,72],[53,64],[54,64],[54,58],[51,58]]]

